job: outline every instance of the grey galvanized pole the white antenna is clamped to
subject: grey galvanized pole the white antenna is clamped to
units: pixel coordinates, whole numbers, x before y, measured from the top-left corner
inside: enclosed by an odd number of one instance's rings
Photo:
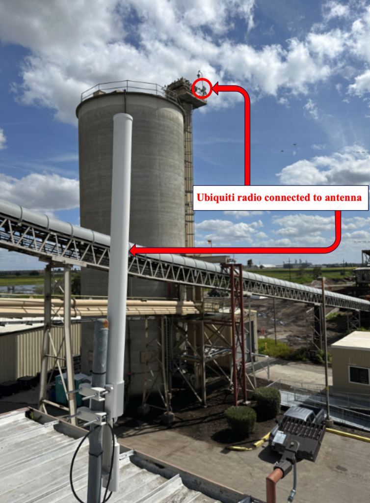
[[[105,388],[107,371],[108,320],[97,319],[94,332],[93,379],[91,387]],[[104,401],[91,400],[90,410],[104,410]],[[106,428],[108,428],[106,426]],[[100,503],[102,491],[103,426],[90,425],[87,503]]]

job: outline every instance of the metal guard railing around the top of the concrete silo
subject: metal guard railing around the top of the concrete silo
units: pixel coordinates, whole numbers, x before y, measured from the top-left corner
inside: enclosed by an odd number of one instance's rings
[[[94,93],[96,93],[97,91],[103,91],[105,93],[112,93],[113,91],[140,91],[141,93],[163,96],[163,98],[173,101],[174,103],[179,105],[177,95],[174,91],[171,91],[165,86],[160,86],[159,84],[153,82],[140,82],[138,80],[116,80],[114,82],[101,82],[96,86],[87,89],[87,91],[81,93],[81,102],[93,97]]]

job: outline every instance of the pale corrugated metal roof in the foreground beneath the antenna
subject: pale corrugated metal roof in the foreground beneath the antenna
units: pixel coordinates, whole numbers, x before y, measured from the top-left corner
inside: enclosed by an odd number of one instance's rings
[[[50,417],[50,416],[49,416]],[[80,438],[64,435],[60,430],[75,428],[61,421],[39,424],[26,417],[25,411],[0,415],[0,501],[2,503],[71,503],[76,501],[69,469]],[[59,430],[59,431],[58,431]],[[80,430],[80,429],[77,429]],[[220,499],[189,488],[189,480],[179,473],[169,479],[158,473],[161,468],[135,451],[120,454],[120,488],[112,503],[256,503],[258,499],[200,477],[196,487],[220,495]],[[167,472],[168,472],[167,465]],[[152,470],[150,469],[152,467]],[[172,467],[175,469],[174,467]],[[82,444],[73,468],[73,484],[80,499],[86,501],[88,441]],[[169,470],[171,471],[171,470]],[[188,474],[191,477],[191,474]],[[203,480],[203,482],[202,482]],[[183,483],[185,482],[185,484]],[[203,484],[203,485],[202,485]],[[203,490],[203,489],[202,489]],[[260,502],[262,503],[262,502]]]

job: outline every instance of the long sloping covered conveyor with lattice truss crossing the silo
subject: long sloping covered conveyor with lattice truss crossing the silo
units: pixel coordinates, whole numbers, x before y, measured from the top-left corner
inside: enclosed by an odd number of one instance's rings
[[[0,247],[71,266],[109,269],[108,235],[49,218],[0,200]],[[130,244],[130,247],[132,244]],[[123,250],[123,253],[126,253]],[[230,290],[229,268],[174,254],[128,254],[130,276]],[[243,272],[243,291],[321,304],[321,290],[289,281]],[[332,291],[325,293],[327,306],[370,311],[370,302]]]

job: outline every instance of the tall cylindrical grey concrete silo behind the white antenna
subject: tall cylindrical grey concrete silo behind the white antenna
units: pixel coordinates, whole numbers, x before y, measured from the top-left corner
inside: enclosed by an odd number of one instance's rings
[[[113,116],[123,112],[133,117],[130,241],[145,246],[194,243],[194,228],[189,231],[186,224],[184,204],[184,197],[185,203],[189,203],[190,183],[193,185],[193,154],[189,152],[193,106],[183,98],[192,93],[190,82],[184,79],[171,86],[176,90],[170,90],[170,86],[166,89],[156,84],[120,81],[97,85],[82,94],[76,109],[81,226],[104,234],[111,232]],[[177,97],[177,94],[183,96]],[[198,106],[205,105],[205,100],[192,97],[195,104],[199,102]],[[184,155],[187,170],[184,170]],[[190,208],[188,204],[187,208],[187,215],[190,210],[193,214],[193,205]],[[187,242],[186,232],[193,233],[192,243]],[[168,296],[165,283],[131,279],[129,285],[132,297],[163,299]],[[108,295],[108,274],[82,269],[81,294]],[[137,340],[139,335],[136,337],[135,331],[131,329]],[[91,368],[93,333],[93,324],[83,323],[81,371],[85,373]],[[137,358],[130,361],[140,363],[139,346],[138,343]]]

